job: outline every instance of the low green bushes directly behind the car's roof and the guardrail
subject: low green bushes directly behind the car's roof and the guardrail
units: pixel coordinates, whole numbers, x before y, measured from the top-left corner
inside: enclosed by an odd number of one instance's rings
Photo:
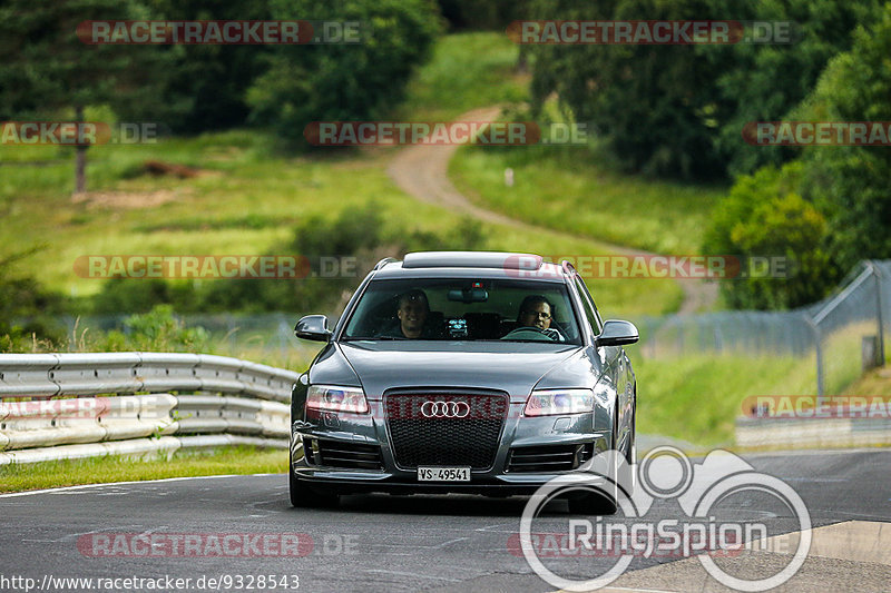
[[[336,217],[310,217],[294,238],[272,254],[305,257],[310,274],[300,279],[163,280],[112,278],[89,303],[95,314],[147,313],[155,304],[179,313],[333,312],[383,257],[414,250],[484,249],[482,225],[462,219],[446,231],[405,229],[370,202]]]

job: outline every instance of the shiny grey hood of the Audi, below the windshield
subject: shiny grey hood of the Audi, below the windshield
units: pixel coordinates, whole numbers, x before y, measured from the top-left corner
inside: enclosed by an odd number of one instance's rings
[[[545,375],[560,387],[569,386],[560,382],[587,383],[591,376],[582,348],[572,345],[355,342],[341,343],[339,349],[370,401],[399,387],[477,387],[503,391],[512,401],[525,402]]]

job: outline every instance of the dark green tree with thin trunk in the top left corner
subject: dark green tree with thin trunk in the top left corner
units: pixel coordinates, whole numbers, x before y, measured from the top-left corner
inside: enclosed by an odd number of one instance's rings
[[[137,0],[8,0],[0,6],[0,116],[57,116],[84,121],[88,106],[112,107],[151,79],[150,46],[88,45],[77,27],[88,20],[147,19]],[[75,192],[86,189],[88,145],[76,149]]]

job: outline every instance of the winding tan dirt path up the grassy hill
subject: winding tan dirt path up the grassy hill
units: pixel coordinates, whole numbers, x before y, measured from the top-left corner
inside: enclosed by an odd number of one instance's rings
[[[499,107],[474,109],[458,117],[459,121],[492,121],[501,111]],[[545,230],[522,220],[517,220],[472,204],[467,196],[458,191],[449,179],[449,160],[458,146],[409,146],[399,151],[390,162],[386,174],[407,194],[421,201],[435,204],[450,210],[467,214],[473,218],[498,225],[510,225],[523,230]],[[547,229],[556,233],[555,229]],[[631,249],[620,245],[603,243],[593,237],[585,237],[600,243],[609,251],[626,255],[655,255],[640,249]],[[678,313],[687,314],[697,310],[708,310],[717,299],[717,284],[702,280],[678,279],[678,286],[684,291],[684,300]]]

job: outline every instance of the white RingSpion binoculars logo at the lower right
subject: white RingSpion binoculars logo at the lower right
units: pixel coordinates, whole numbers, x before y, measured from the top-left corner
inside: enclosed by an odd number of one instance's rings
[[[662,446],[647,453],[639,465],[629,466],[621,452],[606,451],[586,462],[586,474],[561,475],[539,487],[523,508],[519,535],[508,538],[508,550],[522,554],[532,571],[554,587],[593,591],[618,579],[636,557],[695,556],[725,586],[767,591],[792,579],[807,559],[812,524],[804,501],[789,484],[755,471],[733,453],[713,451],[694,464],[679,449]],[[637,487],[633,487],[634,474]],[[767,513],[761,512],[741,520],[738,510],[733,508],[728,520],[719,518],[722,504],[744,492],[758,495],[761,504],[776,505],[799,531],[789,534],[786,527],[771,536]],[[569,518],[565,531],[555,532],[556,520],[541,516],[541,510],[554,498],[579,494],[614,501],[618,515],[596,521]],[[648,517],[657,501],[674,501],[683,514],[664,517],[657,512]],[[536,521],[549,528],[532,531]],[[715,562],[743,550],[779,552],[783,562],[755,579],[731,574],[727,566]],[[561,564],[561,559],[574,562]],[[597,562],[579,564],[577,560],[584,559]],[[610,565],[600,559],[614,562]],[[581,576],[586,570],[587,579]]]

